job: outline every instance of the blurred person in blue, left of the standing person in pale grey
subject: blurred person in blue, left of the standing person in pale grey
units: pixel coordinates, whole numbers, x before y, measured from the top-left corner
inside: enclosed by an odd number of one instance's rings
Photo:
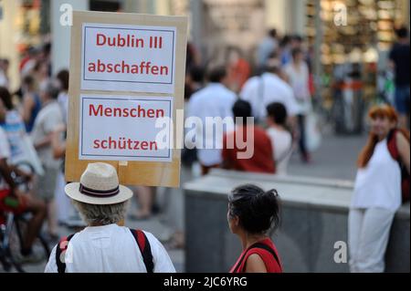
[[[37,93],[36,86],[36,79],[32,76],[27,75],[25,78],[23,78],[22,116],[26,124],[27,132],[31,132],[31,130],[33,130],[37,114],[41,109],[41,100],[40,96]]]

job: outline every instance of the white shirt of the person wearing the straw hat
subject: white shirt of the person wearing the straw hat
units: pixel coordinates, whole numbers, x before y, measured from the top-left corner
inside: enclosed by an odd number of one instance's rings
[[[175,273],[174,265],[153,234],[144,232],[150,243],[154,273]],[[56,247],[45,273],[58,273]],[[130,229],[117,224],[86,227],[75,234],[65,253],[66,273],[147,273],[142,253]]]

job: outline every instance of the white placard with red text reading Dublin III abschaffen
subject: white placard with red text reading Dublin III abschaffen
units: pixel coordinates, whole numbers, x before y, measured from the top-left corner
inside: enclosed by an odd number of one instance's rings
[[[174,94],[176,28],[82,25],[81,89]]]

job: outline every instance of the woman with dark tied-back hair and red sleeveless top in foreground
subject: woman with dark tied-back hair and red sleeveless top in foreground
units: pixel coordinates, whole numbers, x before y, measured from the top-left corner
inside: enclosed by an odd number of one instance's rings
[[[279,195],[255,185],[243,185],[228,195],[228,225],[239,237],[243,252],[230,273],[282,273],[269,231],[279,226]]]

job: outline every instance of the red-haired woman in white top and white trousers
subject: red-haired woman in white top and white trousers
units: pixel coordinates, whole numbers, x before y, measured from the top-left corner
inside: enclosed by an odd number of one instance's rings
[[[369,111],[371,132],[359,156],[351,203],[348,238],[352,272],[384,272],[385,250],[395,212],[401,205],[401,168],[410,172],[409,133],[397,128],[398,116],[388,105]],[[409,194],[409,189],[408,189]]]

